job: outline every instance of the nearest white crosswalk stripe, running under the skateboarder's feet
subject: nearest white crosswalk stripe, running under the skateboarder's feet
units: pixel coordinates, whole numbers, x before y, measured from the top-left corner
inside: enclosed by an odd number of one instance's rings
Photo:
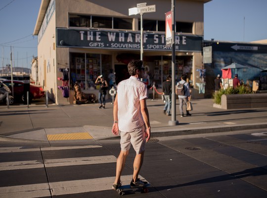
[[[132,175],[121,176],[123,185],[130,184]],[[141,180],[143,177],[139,175]],[[111,190],[111,186],[115,180],[115,177],[104,177],[96,179],[86,180],[73,180],[63,182],[52,182],[49,183],[51,188],[52,196],[77,194],[77,193],[88,193],[96,191]],[[40,198],[49,197],[49,186],[48,184],[31,184],[11,187],[0,187],[1,198]]]

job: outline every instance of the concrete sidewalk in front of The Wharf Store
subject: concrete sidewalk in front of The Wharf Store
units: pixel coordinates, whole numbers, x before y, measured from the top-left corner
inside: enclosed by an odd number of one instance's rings
[[[190,117],[180,117],[177,100],[177,126],[168,123],[171,116],[163,114],[164,102],[147,99],[152,138],[200,133],[228,132],[267,128],[267,108],[225,110],[213,107],[212,99],[192,100]],[[49,135],[74,134],[78,139],[89,133],[94,140],[113,138],[113,104],[55,105],[45,104],[0,105],[0,140],[20,138],[47,141]],[[73,139],[71,139],[73,140]]]

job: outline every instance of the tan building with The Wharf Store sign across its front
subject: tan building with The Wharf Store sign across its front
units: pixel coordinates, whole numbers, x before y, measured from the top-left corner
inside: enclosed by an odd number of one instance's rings
[[[193,98],[199,94],[197,73],[204,69],[202,43],[204,3],[176,0],[176,80],[187,74]],[[62,86],[78,82],[85,93],[97,94],[94,81],[115,72],[116,83],[129,77],[127,64],[140,58],[140,14],[129,16],[139,0],[42,0],[34,35],[38,35],[38,81],[56,104],[69,104]],[[155,12],[143,14],[143,61],[148,87],[171,75],[172,50],[165,43],[165,13],[171,0],[146,0]],[[66,78],[68,76],[68,78]],[[63,82],[63,81],[64,82]]]

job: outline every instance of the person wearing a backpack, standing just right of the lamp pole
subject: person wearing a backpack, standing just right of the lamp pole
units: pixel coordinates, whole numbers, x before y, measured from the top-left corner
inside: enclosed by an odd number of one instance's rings
[[[185,80],[186,80],[186,75],[182,74],[181,80],[177,83],[177,86],[176,86],[177,94],[179,98],[179,110],[180,110],[181,117],[184,116],[183,110],[182,110],[183,102],[185,103],[185,107],[186,107],[187,101],[190,101],[189,84],[185,82]],[[191,116],[191,114],[187,110],[186,110],[186,116]]]

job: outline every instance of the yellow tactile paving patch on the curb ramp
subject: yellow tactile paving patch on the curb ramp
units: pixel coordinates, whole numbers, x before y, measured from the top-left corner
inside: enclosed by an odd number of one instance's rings
[[[49,134],[49,135],[46,135],[46,136],[47,136],[47,139],[49,141],[93,139],[88,132],[84,132],[84,133]]]

